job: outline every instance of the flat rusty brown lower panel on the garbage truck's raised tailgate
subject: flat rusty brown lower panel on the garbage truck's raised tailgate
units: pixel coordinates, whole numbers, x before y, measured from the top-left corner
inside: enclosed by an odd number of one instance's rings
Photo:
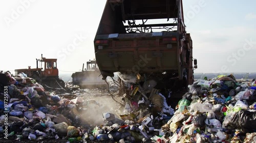
[[[100,69],[110,72],[121,70],[123,70],[121,72],[127,72],[136,69],[135,71],[145,73],[152,70],[160,72],[177,69],[177,51],[175,48],[172,50],[166,49],[166,47],[155,47],[155,49],[129,47],[129,50],[126,49],[116,50],[115,48],[115,50],[109,49],[110,52],[106,52],[106,50],[104,52],[97,52],[96,58]],[[159,50],[156,51],[156,49]],[[113,51],[115,51],[115,56],[110,56],[110,53],[113,54]],[[135,51],[137,52],[137,57],[134,54]],[[158,60],[160,60],[160,65]]]

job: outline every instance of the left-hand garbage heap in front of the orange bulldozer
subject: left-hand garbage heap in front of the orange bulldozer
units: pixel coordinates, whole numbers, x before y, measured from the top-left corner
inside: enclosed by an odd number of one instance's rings
[[[84,133],[90,131],[95,122],[92,121],[99,118],[99,113],[114,111],[98,102],[100,98],[111,103],[107,98],[96,97],[97,94],[107,94],[106,91],[46,91],[33,78],[22,75],[13,77],[8,72],[0,73],[0,90],[0,138],[5,142],[28,139],[35,142],[49,139],[67,142],[72,137],[81,140]],[[87,118],[84,119],[84,116]],[[100,119],[102,122],[98,123],[103,123],[102,113]]]

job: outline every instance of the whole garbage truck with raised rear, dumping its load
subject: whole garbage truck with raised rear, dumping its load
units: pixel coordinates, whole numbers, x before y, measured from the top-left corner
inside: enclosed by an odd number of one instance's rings
[[[197,60],[181,0],[106,1],[94,49],[103,79],[140,75],[177,93],[194,81]]]

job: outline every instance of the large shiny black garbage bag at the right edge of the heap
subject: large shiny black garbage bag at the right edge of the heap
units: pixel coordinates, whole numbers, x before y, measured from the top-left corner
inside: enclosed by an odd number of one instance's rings
[[[241,110],[234,114],[229,125],[233,128],[246,129],[249,131],[256,129],[256,112]]]

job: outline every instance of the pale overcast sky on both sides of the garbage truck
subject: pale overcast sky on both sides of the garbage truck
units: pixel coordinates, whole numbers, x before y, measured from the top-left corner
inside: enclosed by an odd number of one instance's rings
[[[105,0],[0,1],[0,70],[36,67],[43,54],[79,71],[95,58],[93,39]],[[256,72],[256,1],[184,0],[195,72]],[[73,50],[68,47],[73,46]]]

